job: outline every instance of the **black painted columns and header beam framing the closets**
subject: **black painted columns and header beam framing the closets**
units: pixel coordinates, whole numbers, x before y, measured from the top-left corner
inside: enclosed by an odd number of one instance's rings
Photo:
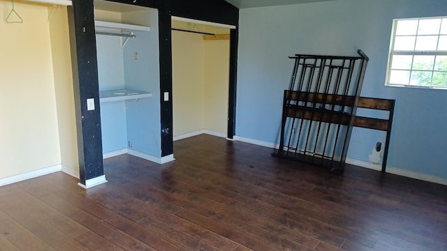
[[[161,156],[173,153],[173,78],[171,16],[217,22],[237,26],[239,10],[223,0],[113,0],[159,10],[160,100],[161,100]],[[73,82],[78,130],[80,180],[103,175],[101,115],[98,92],[96,38],[94,34],[93,0],[73,0],[68,8],[72,43]],[[230,36],[230,95],[228,109],[228,137],[235,134],[235,89],[237,62],[237,29]],[[168,92],[169,100],[164,101]],[[94,98],[96,109],[87,111],[87,98]]]

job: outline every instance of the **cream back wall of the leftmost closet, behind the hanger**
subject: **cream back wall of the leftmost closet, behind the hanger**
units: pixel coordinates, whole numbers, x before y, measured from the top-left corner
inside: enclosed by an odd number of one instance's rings
[[[0,178],[61,164],[47,8],[15,3],[23,23],[8,24],[10,8],[0,1]]]

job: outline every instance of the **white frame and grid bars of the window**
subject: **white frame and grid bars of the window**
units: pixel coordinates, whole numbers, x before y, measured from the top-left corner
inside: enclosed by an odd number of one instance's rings
[[[430,19],[447,19],[447,17],[425,17],[425,18],[404,18],[404,19],[395,19],[393,20],[393,32],[391,33],[391,40],[390,40],[390,50],[388,53],[388,65],[387,65],[387,70],[386,70],[386,82],[385,85],[386,86],[402,86],[402,87],[410,87],[410,88],[423,88],[423,89],[447,89],[447,84],[446,86],[432,86],[432,79],[433,79],[433,73],[434,72],[444,72],[444,70],[435,70],[434,69],[434,63],[433,63],[433,68],[432,70],[424,70],[427,72],[431,72],[432,73],[432,78],[430,81],[430,85],[428,86],[423,86],[423,85],[415,85],[415,84],[411,84],[411,73],[413,73],[413,71],[418,71],[416,69],[413,69],[413,61],[411,62],[411,68],[410,70],[410,77],[409,77],[409,82],[407,84],[391,84],[390,83],[390,75],[391,75],[391,66],[393,65],[393,56],[395,55],[403,55],[403,56],[419,56],[419,55],[427,55],[427,56],[447,56],[447,50],[427,50],[427,51],[421,51],[421,50],[393,50],[394,46],[395,46],[395,38],[396,36],[396,31],[397,31],[397,22],[400,20],[430,20]],[[443,21],[442,24],[444,24],[445,21]],[[416,34],[414,34],[413,36],[416,36],[416,39],[418,38],[418,36],[425,36],[425,35],[418,35],[417,31]],[[439,32],[437,34],[438,36],[438,43],[439,43],[439,37],[440,36],[444,36],[444,33],[441,34],[441,27],[439,29]],[[416,47],[416,42],[415,42],[415,47]],[[397,70],[397,69],[396,69]],[[420,70],[419,70],[420,71]]]

